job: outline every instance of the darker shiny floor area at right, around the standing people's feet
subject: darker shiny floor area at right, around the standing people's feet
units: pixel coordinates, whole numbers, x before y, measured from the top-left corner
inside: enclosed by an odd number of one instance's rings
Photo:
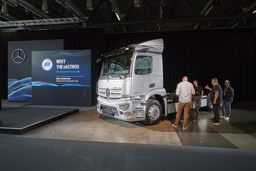
[[[231,120],[221,120],[220,125],[215,125],[209,122],[211,118],[211,112],[201,112],[200,118],[190,123],[187,130],[183,131],[181,126],[176,129],[181,143],[185,146],[256,149],[255,124],[247,124],[248,127],[254,127],[254,133],[250,134],[250,129],[246,128],[244,132],[239,124],[230,124]]]

